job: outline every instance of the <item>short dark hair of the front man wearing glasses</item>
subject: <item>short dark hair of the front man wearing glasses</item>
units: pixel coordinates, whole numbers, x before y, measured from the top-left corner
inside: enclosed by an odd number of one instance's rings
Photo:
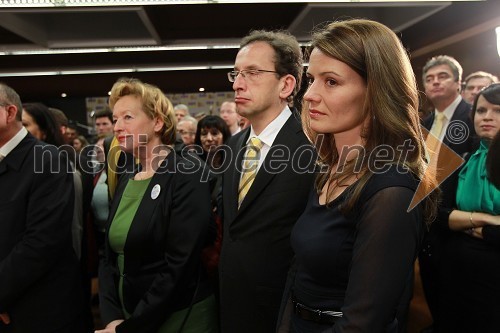
[[[274,49],[274,66],[280,77],[290,74],[295,78],[295,88],[287,98],[291,102],[302,80],[303,58],[299,42],[285,30],[254,30],[241,40],[240,48],[254,42],[265,42]]]

